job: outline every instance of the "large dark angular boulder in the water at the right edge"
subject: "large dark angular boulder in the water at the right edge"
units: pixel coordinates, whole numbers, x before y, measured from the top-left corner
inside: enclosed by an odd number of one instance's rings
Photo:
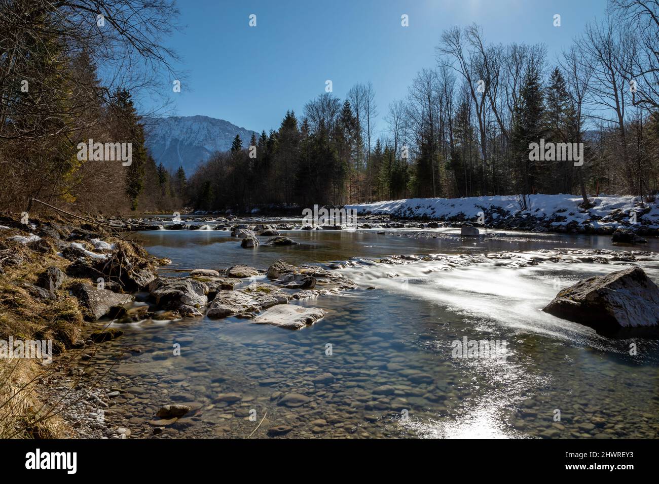
[[[579,281],[561,290],[542,310],[590,326],[603,335],[656,333],[659,289],[643,269],[630,267]]]

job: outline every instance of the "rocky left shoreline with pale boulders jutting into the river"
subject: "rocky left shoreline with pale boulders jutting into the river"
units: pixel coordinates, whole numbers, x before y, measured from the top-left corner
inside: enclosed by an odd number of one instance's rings
[[[322,319],[324,311],[288,306],[289,301],[357,287],[322,267],[295,267],[283,260],[267,269],[234,265],[198,268],[183,277],[158,276],[156,269],[169,260],[156,259],[138,243],[126,240],[117,232],[119,227],[93,222],[31,219],[22,223],[13,217],[0,217],[1,290],[11,292],[16,286],[24,290],[19,309],[53,304],[66,307],[55,314],[57,320],[68,318],[65,329],[34,334],[35,338],[51,338],[53,352],[58,355],[34,389],[45,403],[47,415],[63,421],[59,433],[51,437],[130,437],[130,429],[112,425],[112,412],[108,412],[124,400],[125,390],[104,388],[102,379],[94,381],[97,375],[93,370],[94,355],[103,352],[105,342],[123,335],[123,323],[194,318],[205,313],[213,319],[240,317],[256,324],[301,329]],[[239,233],[250,230],[247,227],[229,228],[235,236],[250,236]],[[257,230],[276,238],[276,230],[270,227]],[[148,292],[147,303],[135,302],[138,291]],[[27,334],[26,327],[38,323],[15,308],[3,305],[0,309],[14,312],[14,333]],[[115,356],[122,358],[121,354]],[[38,363],[32,371],[40,375]],[[163,408],[167,405],[169,402],[163,402]],[[159,414],[163,412],[161,408]],[[32,417],[40,421],[41,416]]]

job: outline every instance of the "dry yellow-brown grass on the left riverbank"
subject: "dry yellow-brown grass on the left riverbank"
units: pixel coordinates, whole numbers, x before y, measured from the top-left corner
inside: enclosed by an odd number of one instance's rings
[[[61,221],[55,220],[56,223]],[[67,222],[70,223],[70,222]],[[5,230],[4,236],[26,235],[22,230]],[[103,237],[105,238],[105,237]],[[0,240],[0,261],[18,255],[20,265],[2,265],[0,273],[0,339],[52,340],[53,354],[71,348],[79,338],[83,316],[78,300],[69,296],[68,287],[83,279],[67,279],[57,291],[57,299],[40,300],[25,283],[34,283],[47,267],[63,271],[70,261],[57,255],[55,241],[43,237],[38,244],[24,246]],[[37,360],[0,358],[0,438],[71,437],[71,429],[59,416],[61,406],[44,404],[50,385],[57,384],[56,373],[65,371],[74,356],[43,365]]]

